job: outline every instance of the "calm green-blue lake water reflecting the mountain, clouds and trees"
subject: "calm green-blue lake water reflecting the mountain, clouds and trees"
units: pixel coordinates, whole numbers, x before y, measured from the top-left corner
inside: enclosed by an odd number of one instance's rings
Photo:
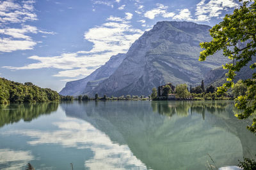
[[[255,159],[232,101],[0,106],[0,169],[207,169]],[[211,160],[212,158],[212,160]]]

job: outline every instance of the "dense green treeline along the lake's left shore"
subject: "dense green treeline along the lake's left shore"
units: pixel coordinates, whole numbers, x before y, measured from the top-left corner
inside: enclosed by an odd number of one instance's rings
[[[44,101],[59,101],[58,92],[42,89],[33,83],[17,83],[0,78],[0,104],[6,103],[35,103]]]

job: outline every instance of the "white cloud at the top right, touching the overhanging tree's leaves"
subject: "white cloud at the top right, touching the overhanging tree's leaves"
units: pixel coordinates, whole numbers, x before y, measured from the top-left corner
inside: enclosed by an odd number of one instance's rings
[[[196,4],[196,20],[209,21],[212,17],[220,17],[223,10],[236,8],[238,6],[233,0],[202,0]]]

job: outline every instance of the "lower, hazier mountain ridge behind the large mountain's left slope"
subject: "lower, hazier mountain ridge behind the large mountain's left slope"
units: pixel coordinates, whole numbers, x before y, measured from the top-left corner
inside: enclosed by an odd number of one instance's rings
[[[92,74],[86,76],[86,78],[67,82],[60,91],[60,94],[63,96],[79,96],[80,94],[90,92],[90,90],[93,90],[94,87],[113,74],[124,58],[124,53],[113,55],[104,66],[99,67]]]

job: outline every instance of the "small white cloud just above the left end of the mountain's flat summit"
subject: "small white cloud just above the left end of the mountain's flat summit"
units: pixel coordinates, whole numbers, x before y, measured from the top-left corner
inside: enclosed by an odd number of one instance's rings
[[[167,11],[168,6],[164,6],[163,4],[157,4],[157,8],[146,11],[144,17],[149,19],[154,19],[155,17],[161,15],[164,18],[173,17],[175,14]]]

